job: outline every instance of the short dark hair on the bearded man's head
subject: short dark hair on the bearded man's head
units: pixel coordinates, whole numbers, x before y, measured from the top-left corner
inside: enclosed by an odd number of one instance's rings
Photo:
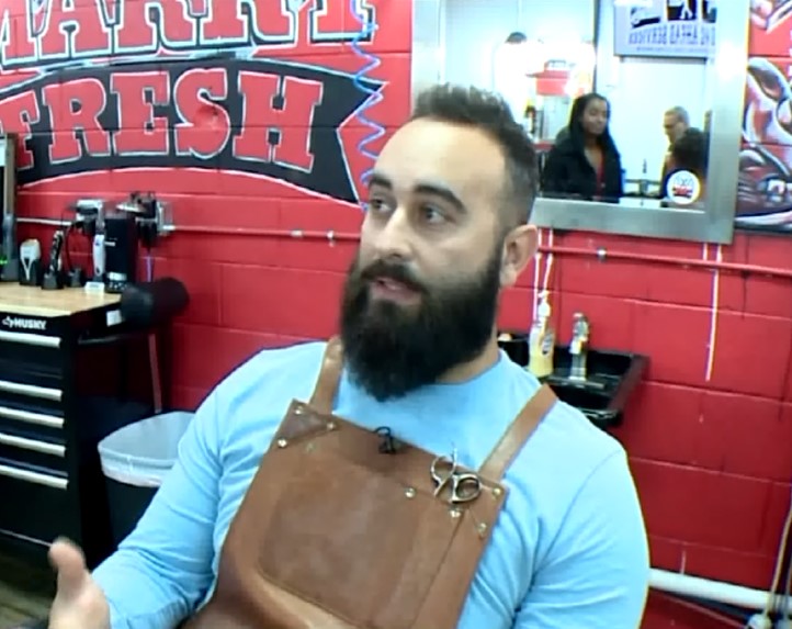
[[[479,128],[496,141],[506,159],[505,227],[529,221],[539,181],[536,150],[501,97],[473,87],[433,86],[416,100],[410,120],[421,117]]]

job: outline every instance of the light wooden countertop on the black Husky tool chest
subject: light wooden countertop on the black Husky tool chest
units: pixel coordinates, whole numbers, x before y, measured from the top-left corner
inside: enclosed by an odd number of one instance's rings
[[[38,287],[21,287],[0,282],[0,312],[23,316],[58,317],[117,304],[121,295],[87,293],[82,289],[44,291]]]

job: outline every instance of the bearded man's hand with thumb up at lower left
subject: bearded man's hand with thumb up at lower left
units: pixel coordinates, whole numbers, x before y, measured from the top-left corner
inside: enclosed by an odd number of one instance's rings
[[[88,572],[82,551],[69,541],[56,540],[49,561],[58,572],[49,629],[110,629],[108,599]]]

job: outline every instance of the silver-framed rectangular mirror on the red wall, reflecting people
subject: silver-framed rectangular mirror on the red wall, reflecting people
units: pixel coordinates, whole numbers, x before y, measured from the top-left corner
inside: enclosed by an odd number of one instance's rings
[[[729,243],[749,1],[415,0],[412,89],[504,97],[540,226]]]

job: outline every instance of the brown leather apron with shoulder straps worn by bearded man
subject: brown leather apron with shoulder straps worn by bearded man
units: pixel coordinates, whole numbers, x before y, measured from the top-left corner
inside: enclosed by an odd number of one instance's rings
[[[555,395],[540,389],[478,472],[459,469],[438,488],[435,454],[383,448],[382,435],[331,414],[341,368],[333,339],[310,402],[292,402],[264,453],[215,592],[186,629],[456,627],[504,507],[504,473]],[[466,473],[480,494],[454,504]]]

